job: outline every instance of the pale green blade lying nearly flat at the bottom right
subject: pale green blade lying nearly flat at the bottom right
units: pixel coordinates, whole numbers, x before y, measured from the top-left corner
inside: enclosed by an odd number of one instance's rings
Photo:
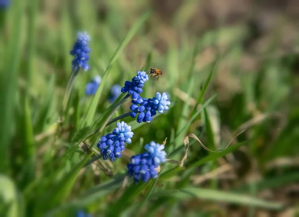
[[[196,197],[203,200],[225,202],[229,204],[238,204],[246,206],[256,206],[269,210],[281,210],[284,206],[279,203],[273,203],[264,201],[258,198],[249,197],[246,195],[239,195],[229,192],[223,192],[219,190],[211,189],[198,189],[198,188],[186,188],[179,189],[179,193],[172,194],[173,197],[177,197],[184,200],[189,197]]]

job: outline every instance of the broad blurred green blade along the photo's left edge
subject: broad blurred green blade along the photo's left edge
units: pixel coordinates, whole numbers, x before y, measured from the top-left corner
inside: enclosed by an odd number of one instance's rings
[[[6,48],[4,69],[0,77],[0,173],[8,168],[8,148],[10,146],[13,112],[17,91],[17,70],[21,57],[21,36],[23,0],[13,3],[13,22],[11,35]]]

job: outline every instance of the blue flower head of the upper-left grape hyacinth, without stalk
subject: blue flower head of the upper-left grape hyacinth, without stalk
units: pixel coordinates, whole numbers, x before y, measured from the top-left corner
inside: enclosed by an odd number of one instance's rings
[[[72,61],[72,68],[75,71],[81,67],[84,71],[88,71],[90,66],[88,65],[90,48],[88,47],[90,36],[86,31],[77,33],[77,41],[75,42],[70,54],[75,58]]]

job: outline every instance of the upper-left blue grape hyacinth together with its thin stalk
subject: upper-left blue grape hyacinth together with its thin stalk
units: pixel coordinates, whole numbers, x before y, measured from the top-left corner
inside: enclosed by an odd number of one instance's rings
[[[77,33],[77,40],[73,45],[70,54],[74,56],[72,61],[72,72],[70,74],[66,91],[64,94],[62,102],[62,110],[65,111],[67,102],[70,97],[71,89],[75,80],[76,75],[78,74],[80,68],[84,71],[89,70],[90,66],[88,64],[89,55],[91,49],[88,47],[90,41],[90,36],[86,31]]]

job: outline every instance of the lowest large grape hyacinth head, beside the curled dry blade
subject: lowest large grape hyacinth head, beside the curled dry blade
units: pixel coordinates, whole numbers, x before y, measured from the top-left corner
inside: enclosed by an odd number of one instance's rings
[[[166,152],[164,146],[154,141],[145,145],[148,152],[131,157],[131,163],[127,165],[128,175],[134,176],[134,182],[138,183],[140,179],[148,182],[151,178],[157,178],[156,168],[160,163],[166,162]]]

